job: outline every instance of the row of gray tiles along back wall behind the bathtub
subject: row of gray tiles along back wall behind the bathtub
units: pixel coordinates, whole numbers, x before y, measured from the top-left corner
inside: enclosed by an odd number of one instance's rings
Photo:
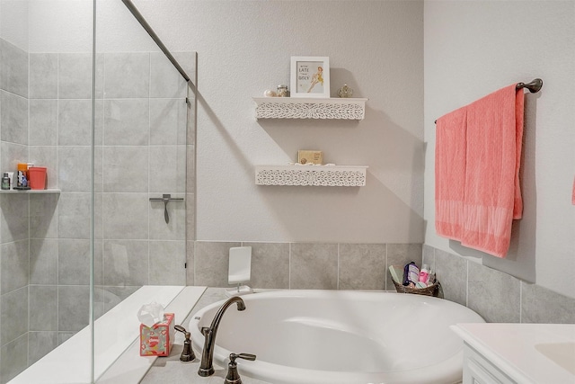
[[[261,289],[383,290],[387,263],[421,258],[420,244],[323,244],[196,241],[190,284],[229,287],[229,248],[252,246],[252,281]],[[189,267],[190,268],[190,267]],[[392,290],[394,290],[392,284]]]

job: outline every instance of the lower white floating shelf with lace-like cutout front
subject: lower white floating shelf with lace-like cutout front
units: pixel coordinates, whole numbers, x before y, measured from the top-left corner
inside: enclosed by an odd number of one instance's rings
[[[256,165],[257,185],[362,187],[365,165]]]

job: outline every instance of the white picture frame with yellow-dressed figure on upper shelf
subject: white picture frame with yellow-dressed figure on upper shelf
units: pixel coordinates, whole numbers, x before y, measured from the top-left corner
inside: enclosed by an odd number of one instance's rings
[[[330,98],[330,58],[292,56],[290,97]]]

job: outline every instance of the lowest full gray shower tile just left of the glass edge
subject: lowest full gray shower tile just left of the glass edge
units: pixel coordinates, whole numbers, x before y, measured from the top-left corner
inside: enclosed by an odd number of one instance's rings
[[[57,287],[57,329],[77,332],[90,318],[90,287],[64,285]]]

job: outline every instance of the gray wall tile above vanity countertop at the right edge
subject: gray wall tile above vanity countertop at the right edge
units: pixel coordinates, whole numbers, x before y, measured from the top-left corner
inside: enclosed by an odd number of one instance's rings
[[[521,323],[575,324],[575,299],[521,281]]]

